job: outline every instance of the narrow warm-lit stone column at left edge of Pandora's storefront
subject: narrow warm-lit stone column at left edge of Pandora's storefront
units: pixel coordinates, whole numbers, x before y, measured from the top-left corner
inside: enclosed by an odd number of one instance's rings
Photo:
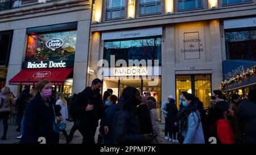
[[[98,66],[97,62],[101,57],[103,56],[103,53],[101,52],[100,48],[100,32],[93,32],[92,33],[92,40],[90,45],[90,57],[89,57],[89,68],[94,71],[94,74],[88,74],[88,82],[87,86],[91,86],[91,83],[94,78],[100,78],[97,77],[98,73]],[[102,56],[100,56],[100,53],[102,53]]]

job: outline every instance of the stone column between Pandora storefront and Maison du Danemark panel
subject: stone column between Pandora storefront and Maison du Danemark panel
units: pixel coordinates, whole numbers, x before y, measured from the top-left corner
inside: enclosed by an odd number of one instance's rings
[[[174,27],[163,30],[162,40],[162,105],[169,95],[175,97],[175,36]],[[162,115],[162,122],[164,117]]]

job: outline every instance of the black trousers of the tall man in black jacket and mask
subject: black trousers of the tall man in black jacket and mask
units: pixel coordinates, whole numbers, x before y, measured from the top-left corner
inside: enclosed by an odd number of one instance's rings
[[[89,125],[82,129],[82,144],[95,144],[96,129],[97,127],[90,127]]]

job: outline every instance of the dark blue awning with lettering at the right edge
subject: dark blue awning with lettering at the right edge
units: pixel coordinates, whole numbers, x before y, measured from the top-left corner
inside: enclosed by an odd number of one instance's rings
[[[234,75],[240,74],[243,70],[256,65],[254,60],[225,60],[223,65],[223,79],[228,79]],[[245,79],[226,85],[225,89],[238,89],[256,84],[256,75],[246,77]]]

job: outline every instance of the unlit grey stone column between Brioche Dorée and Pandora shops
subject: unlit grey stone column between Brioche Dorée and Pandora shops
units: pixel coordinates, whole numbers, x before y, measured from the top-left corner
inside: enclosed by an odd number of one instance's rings
[[[80,93],[86,86],[90,20],[77,24],[76,54],[73,71],[72,93]]]

